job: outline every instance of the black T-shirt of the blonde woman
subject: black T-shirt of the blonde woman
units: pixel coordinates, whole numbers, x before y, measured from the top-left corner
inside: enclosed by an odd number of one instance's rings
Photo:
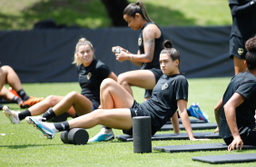
[[[100,105],[100,85],[103,79],[107,78],[111,71],[109,67],[101,61],[94,59],[92,64],[84,67],[84,64],[78,66],[79,84],[82,88],[81,94],[87,97],[94,107]]]

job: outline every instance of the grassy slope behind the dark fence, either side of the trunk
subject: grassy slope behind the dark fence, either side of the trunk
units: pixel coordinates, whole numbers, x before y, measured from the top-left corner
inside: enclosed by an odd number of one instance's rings
[[[129,0],[130,3],[136,1]],[[143,0],[149,16],[162,26],[231,25],[227,0]],[[0,29],[32,29],[53,18],[58,25],[83,28],[111,26],[100,0],[1,0]]]

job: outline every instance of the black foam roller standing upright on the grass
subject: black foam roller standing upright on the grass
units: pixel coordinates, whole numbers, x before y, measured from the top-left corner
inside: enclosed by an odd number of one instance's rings
[[[151,118],[149,116],[133,117],[133,152],[152,152]]]

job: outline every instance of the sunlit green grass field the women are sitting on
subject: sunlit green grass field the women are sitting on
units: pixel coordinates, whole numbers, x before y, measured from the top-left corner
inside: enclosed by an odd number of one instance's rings
[[[189,105],[200,103],[202,111],[215,123],[213,108],[222,97],[230,81],[227,78],[188,79]],[[23,87],[29,95],[44,96],[50,94],[65,95],[70,91],[80,92],[78,83],[24,83]],[[143,89],[134,88],[134,98],[143,102]],[[8,104],[11,109],[19,110],[17,104]],[[23,111],[23,110],[22,110]],[[101,126],[88,129],[90,137],[99,132]],[[212,132],[206,130],[203,132]],[[202,132],[202,131],[193,131]],[[219,152],[180,152],[166,153],[133,153],[133,142],[88,143],[85,145],[64,144],[57,133],[53,140],[45,140],[40,131],[25,123],[11,124],[0,113],[0,166],[209,166],[209,163],[194,162],[193,156],[219,155],[230,153],[256,153],[256,151],[219,151]],[[5,133],[5,135],[3,135]],[[123,134],[114,130],[115,135]],[[161,133],[172,133],[161,132]],[[184,133],[184,131],[182,131]],[[173,144],[195,144],[204,142],[223,142],[222,139],[192,142],[183,141],[153,141],[153,146]],[[256,166],[256,162],[219,164],[213,166]]]

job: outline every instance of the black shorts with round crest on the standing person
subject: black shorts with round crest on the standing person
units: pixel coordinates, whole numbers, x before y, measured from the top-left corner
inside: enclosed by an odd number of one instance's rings
[[[230,38],[230,57],[233,58],[233,55],[240,58],[245,59],[246,49],[245,49],[246,40],[232,35]]]

